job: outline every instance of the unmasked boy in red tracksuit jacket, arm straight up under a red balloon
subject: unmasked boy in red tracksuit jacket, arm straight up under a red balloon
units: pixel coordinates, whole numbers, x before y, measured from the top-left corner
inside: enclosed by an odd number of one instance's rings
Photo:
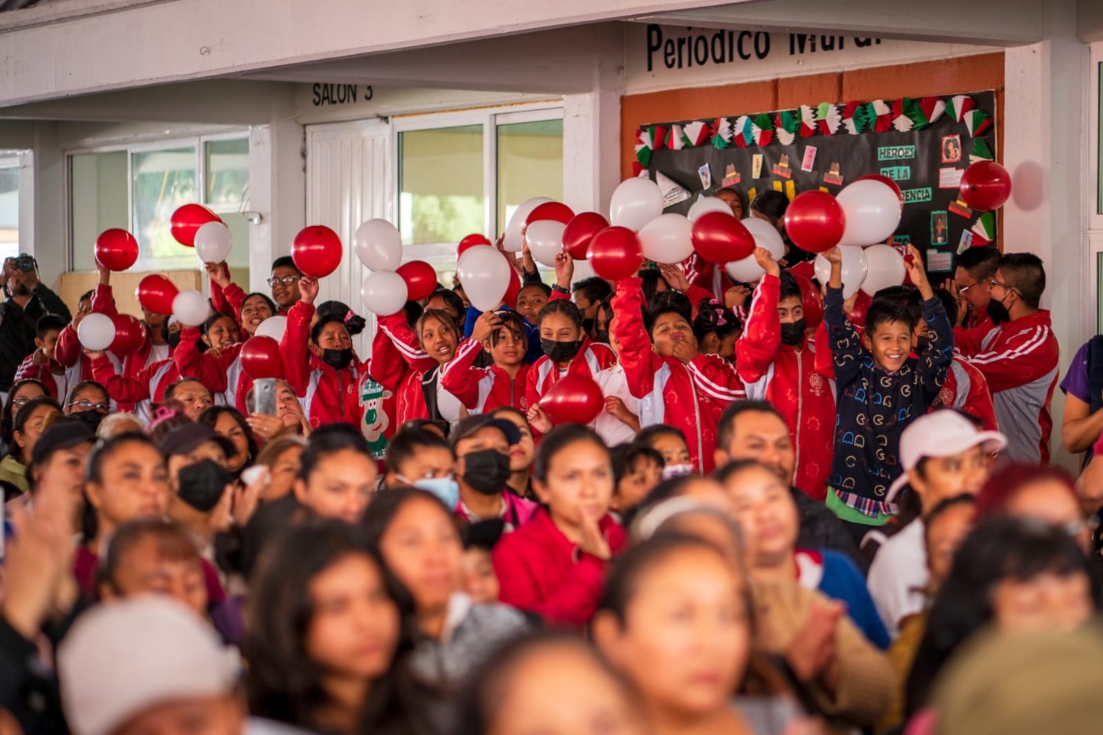
[[[620,364],[632,394],[641,401],[640,425],[666,423],[681,429],[690,463],[708,473],[720,413],[731,401],[746,398],[747,391],[733,365],[700,354],[683,304],[655,301],[644,324],[640,279],[617,284],[613,336],[620,344]]]

